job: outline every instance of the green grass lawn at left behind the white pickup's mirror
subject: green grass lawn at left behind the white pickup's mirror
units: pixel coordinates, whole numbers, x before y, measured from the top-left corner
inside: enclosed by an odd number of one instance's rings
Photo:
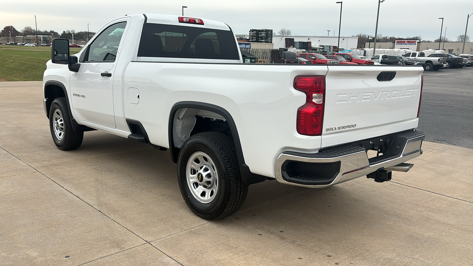
[[[70,53],[78,53],[80,49],[70,48]],[[50,59],[51,47],[0,45],[0,81],[43,80]]]

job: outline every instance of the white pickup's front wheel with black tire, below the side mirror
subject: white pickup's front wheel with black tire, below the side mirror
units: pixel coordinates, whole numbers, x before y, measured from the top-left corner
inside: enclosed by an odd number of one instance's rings
[[[62,118],[62,122],[58,117]],[[59,126],[60,122],[62,127]],[[74,131],[72,128],[69,109],[67,108],[66,98],[64,97],[55,98],[51,103],[49,111],[49,129],[51,130],[54,144],[56,144],[56,146],[62,151],[75,150],[80,147],[80,144],[82,144],[84,132]]]

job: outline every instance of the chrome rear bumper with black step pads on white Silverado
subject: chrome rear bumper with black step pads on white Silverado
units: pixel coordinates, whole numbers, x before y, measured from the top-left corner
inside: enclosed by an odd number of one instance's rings
[[[388,168],[411,160],[420,154],[425,134],[421,131],[410,131],[395,135],[388,152],[376,158],[368,159],[368,153],[363,147],[346,146],[314,154],[298,152],[283,152],[275,162],[274,170],[278,182],[303,187],[326,187],[363,177],[380,168]],[[302,162],[302,168],[314,163],[315,169],[325,173],[325,177],[318,177],[317,171],[312,174],[299,174],[291,177],[288,169],[290,163]],[[330,170],[324,169],[330,168]],[[300,167],[299,167],[300,168]],[[307,170],[306,170],[307,171]],[[294,171],[293,171],[294,172]],[[328,177],[327,177],[328,175]],[[299,178],[299,179],[298,179]],[[310,181],[307,181],[310,180]]]

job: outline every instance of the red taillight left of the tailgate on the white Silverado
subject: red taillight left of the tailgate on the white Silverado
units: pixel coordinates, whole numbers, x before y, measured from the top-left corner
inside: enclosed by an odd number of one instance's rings
[[[320,136],[324,122],[325,76],[298,76],[294,89],[306,94],[306,104],[299,107],[297,131],[308,136]]]

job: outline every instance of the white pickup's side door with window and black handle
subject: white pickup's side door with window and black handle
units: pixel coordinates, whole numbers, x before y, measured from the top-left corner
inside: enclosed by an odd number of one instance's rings
[[[115,128],[114,70],[127,22],[106,27],[88,46],[79,72],[70,74],[72,106],[79,121]]]

